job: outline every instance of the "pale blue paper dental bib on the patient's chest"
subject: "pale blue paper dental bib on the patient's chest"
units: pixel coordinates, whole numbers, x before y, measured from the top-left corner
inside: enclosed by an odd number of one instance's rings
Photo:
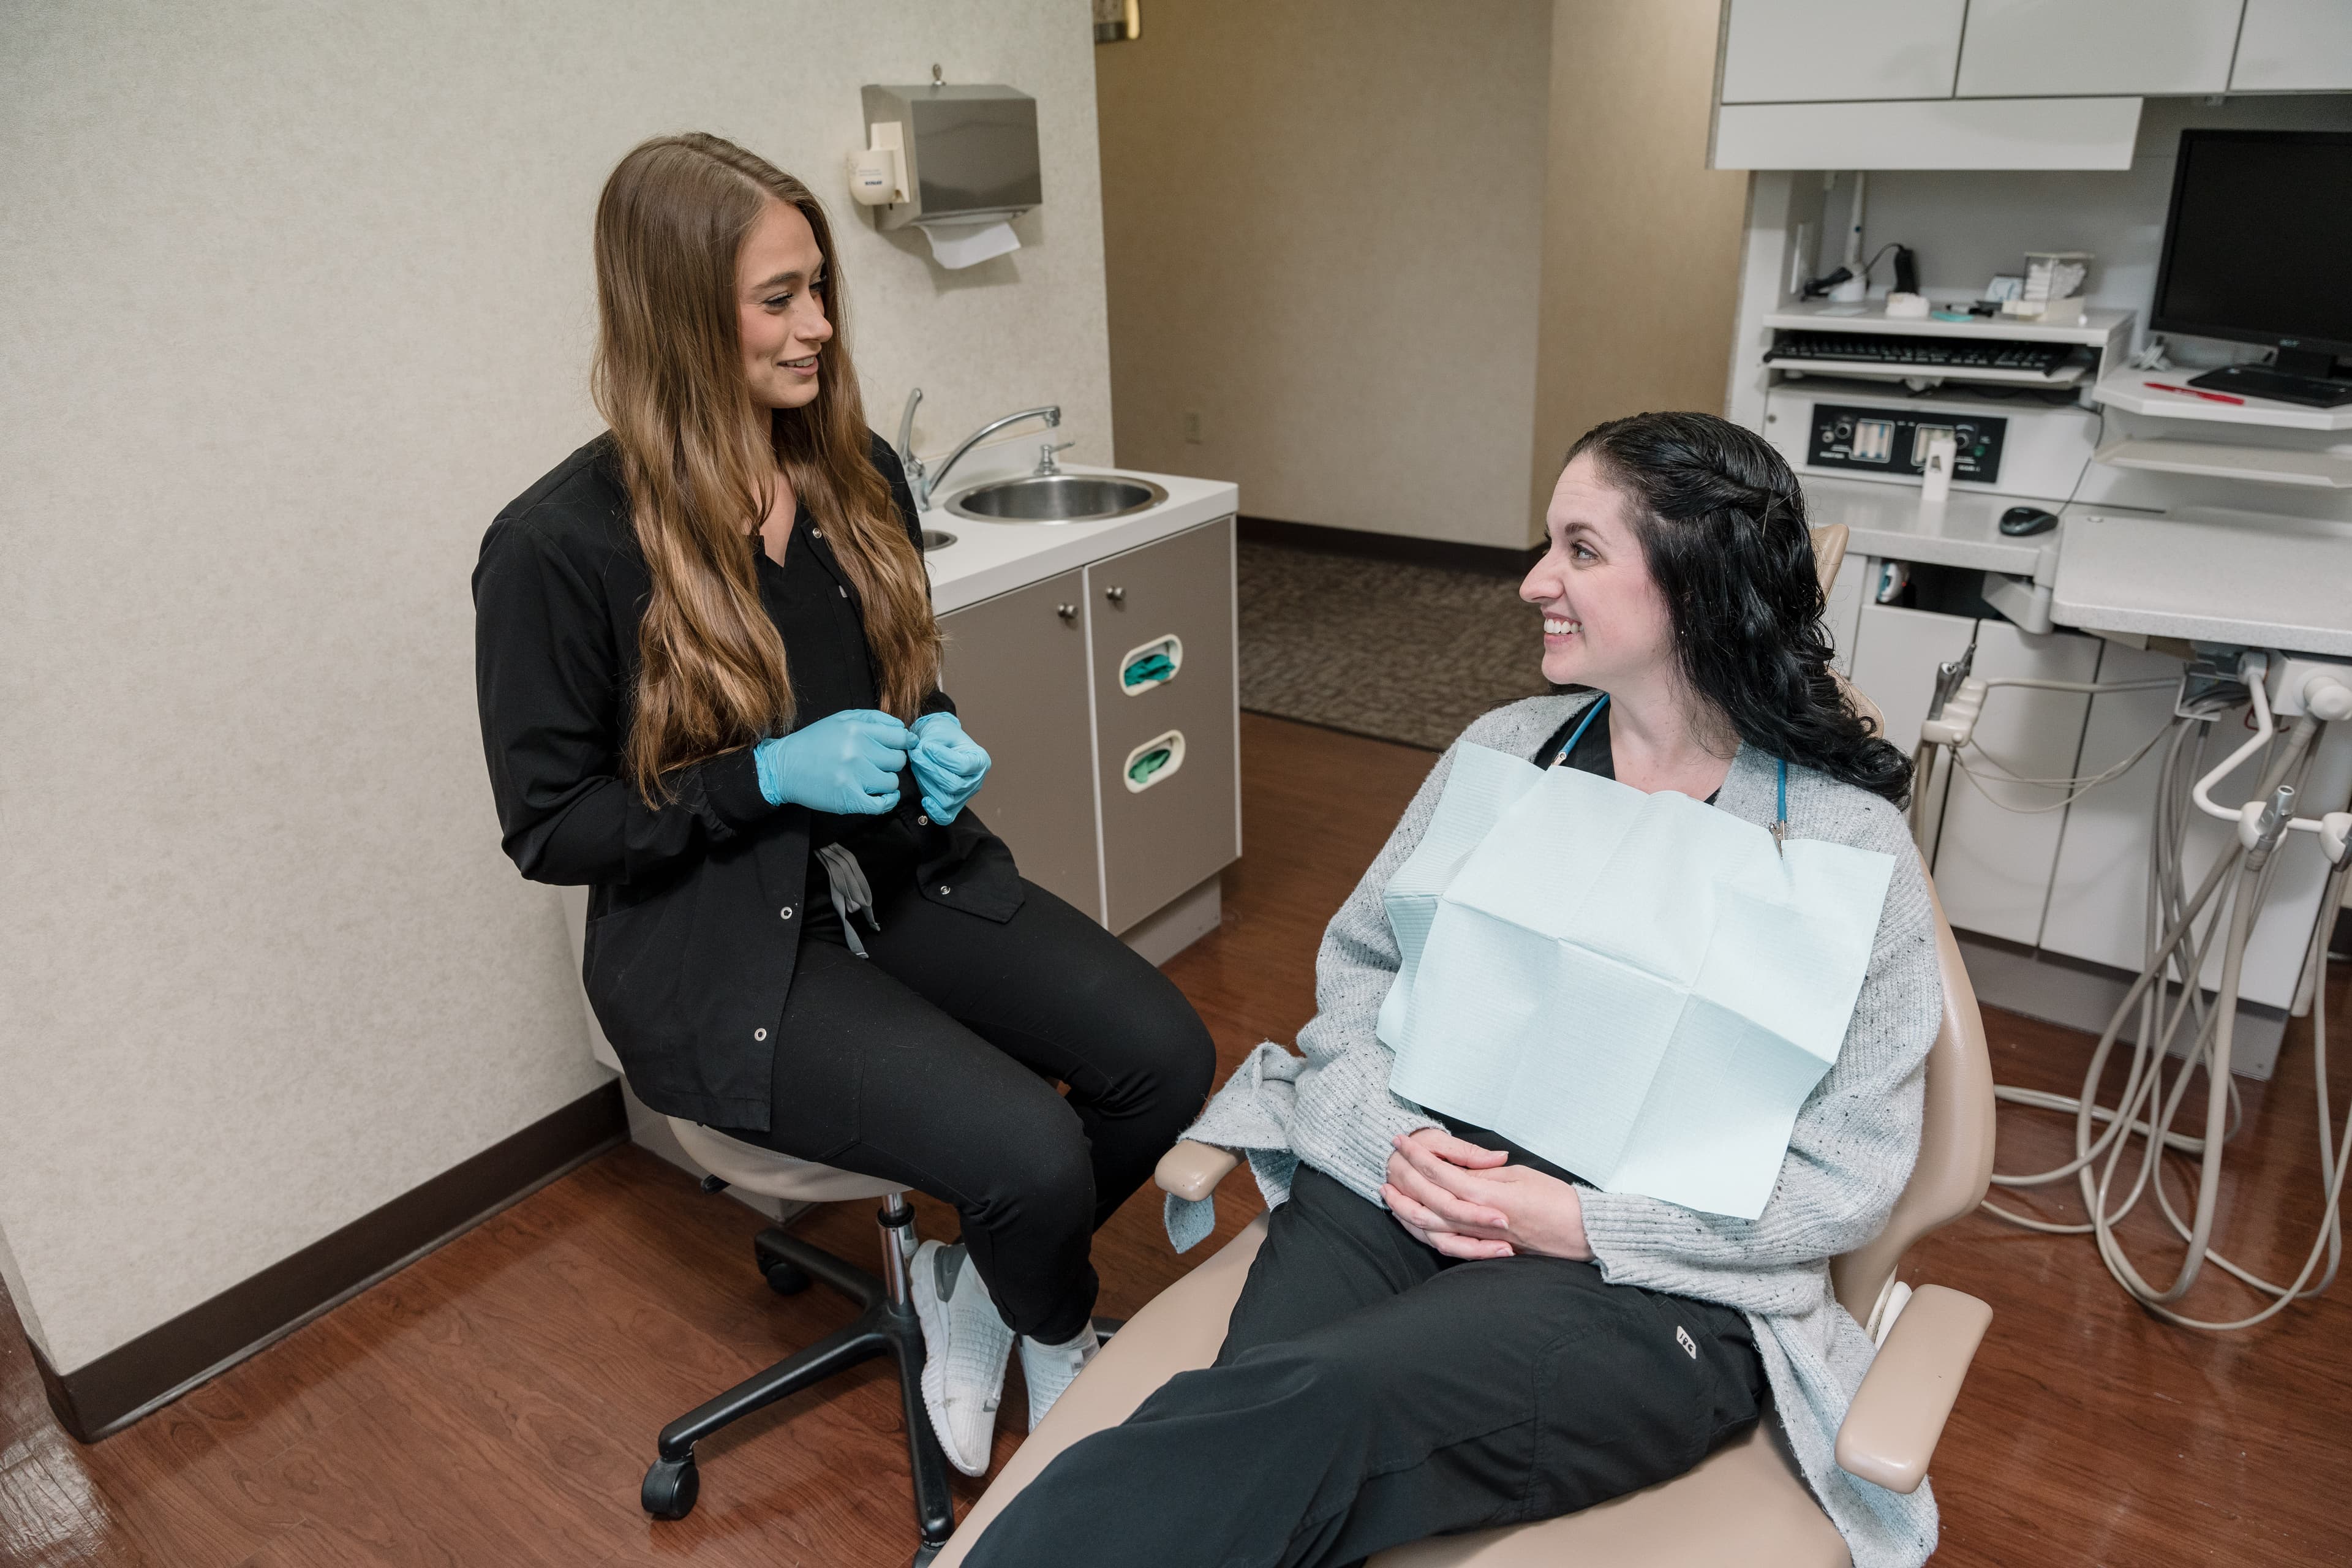
[[[1752,1220],[1891,879],[1879,851],[1463,743],[1383,896],[1388,1086],[1604,1192]]]

